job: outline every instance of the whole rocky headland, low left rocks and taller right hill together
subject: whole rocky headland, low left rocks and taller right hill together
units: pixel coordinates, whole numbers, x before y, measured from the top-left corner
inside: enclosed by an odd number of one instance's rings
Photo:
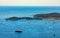
[[[10,17],[5,20],[60,20],[60,13],[35,14],[32,17]]]

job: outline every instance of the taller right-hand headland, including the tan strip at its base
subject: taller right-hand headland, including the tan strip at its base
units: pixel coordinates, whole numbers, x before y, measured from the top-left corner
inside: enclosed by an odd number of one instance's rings
[[[60,20],[60,13],[36,14],[34,18]]]

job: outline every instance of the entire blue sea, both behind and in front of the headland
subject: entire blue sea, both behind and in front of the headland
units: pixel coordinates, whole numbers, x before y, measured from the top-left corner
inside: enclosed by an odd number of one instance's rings
[[[0,6],[0,38],[60,38],[60,20],[5,20],[54,12],[60,6]]]

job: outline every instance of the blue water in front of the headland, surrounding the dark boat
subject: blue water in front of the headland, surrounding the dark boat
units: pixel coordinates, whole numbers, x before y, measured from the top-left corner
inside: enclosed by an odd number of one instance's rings
[[[17,33],[16,30],[23,32]],[[0,38],[60,38],[60,20],[0,19]]]

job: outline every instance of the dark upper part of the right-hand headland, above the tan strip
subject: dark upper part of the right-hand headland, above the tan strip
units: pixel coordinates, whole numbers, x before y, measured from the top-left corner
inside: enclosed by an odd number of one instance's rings
[[[60,13],[36,14],[34,18],[60,17]]]

